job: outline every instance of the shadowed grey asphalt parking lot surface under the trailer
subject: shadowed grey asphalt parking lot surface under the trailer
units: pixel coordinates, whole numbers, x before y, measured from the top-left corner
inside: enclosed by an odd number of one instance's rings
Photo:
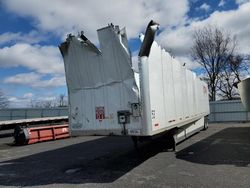
[[[0,187],[250,187],[250,123],[210,124],[166,151],[129,137],[13,146],[0,132]]]

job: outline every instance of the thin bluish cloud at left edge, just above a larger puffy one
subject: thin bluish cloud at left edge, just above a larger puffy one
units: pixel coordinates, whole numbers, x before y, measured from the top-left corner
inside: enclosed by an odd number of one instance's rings
[[[45,39],[46,37],[44,35],[41,35],[38,31],[35,30],[30,31],[27,34],[23,34],[21,32],[6,32],[0,35],[0,45],[10,42],[34,44]]]

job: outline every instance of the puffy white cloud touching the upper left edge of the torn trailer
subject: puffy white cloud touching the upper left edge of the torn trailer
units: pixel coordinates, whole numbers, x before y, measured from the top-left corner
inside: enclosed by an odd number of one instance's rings
[[[18,43],[0,49],[0,67],[23,66],[39,73],[64,73],[57,47]]]

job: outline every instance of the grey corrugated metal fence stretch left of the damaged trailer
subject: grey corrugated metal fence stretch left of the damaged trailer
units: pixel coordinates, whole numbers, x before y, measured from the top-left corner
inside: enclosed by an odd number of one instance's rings
[[[55,117],[55,116],[68,116],[68,108],[60,107],[60,108],[0,109],[0,121],[29,119],[29,118],[42,118],[42,117]]]

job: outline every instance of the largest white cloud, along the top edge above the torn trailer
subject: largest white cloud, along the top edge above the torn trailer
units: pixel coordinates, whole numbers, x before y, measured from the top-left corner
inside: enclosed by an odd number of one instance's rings
[[[188,0],[8,0],[3,3],[20,16],[31,16],[38,29],[59,36],[84,30],[94,41],[96,29],[110,22],[126,26],[129,36],[137,37],[150,19],[164,27],[178,25],[183,23],[189,10]]]

